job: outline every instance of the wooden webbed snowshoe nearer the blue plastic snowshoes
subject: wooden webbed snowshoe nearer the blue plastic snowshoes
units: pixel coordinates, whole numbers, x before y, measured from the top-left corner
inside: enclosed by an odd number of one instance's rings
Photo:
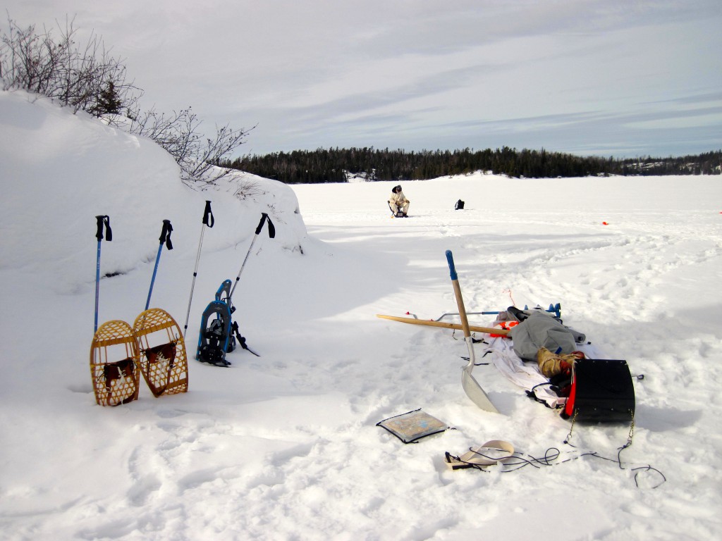
[[[133,333],[139,351],[139,366],[153,396],[188,391],[188,356],[181,327],[160,308],[136,317]]]

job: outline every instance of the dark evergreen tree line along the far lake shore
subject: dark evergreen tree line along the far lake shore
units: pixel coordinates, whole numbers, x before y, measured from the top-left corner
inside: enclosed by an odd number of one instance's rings
[[[614,159],[580,157],[544,149],[404,151],[374,149],[295,150],[251,155],[219,162],[288,184],[367,180],[425,180],[445,175],[491,171],[510,177],[585,177],[589,175],[719,175],[722,150],[697,156]]]

